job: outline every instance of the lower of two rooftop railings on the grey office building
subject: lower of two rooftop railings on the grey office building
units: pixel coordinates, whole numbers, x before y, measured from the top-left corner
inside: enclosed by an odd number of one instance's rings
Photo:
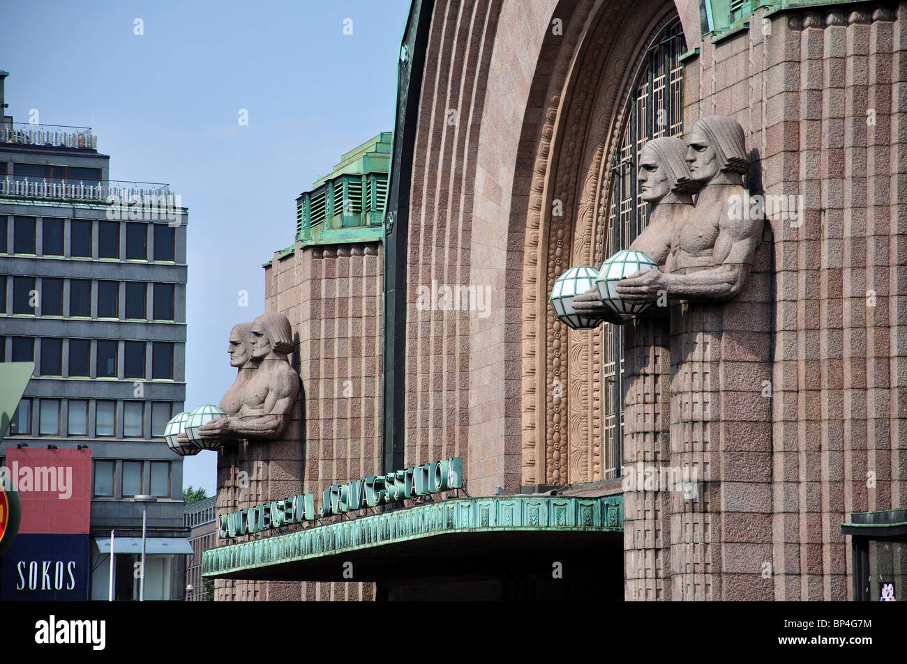
[[[0,178],[0,197],[52,198],[80,200],[92,203],[110,202],[108,197],[122,205],[133,201],[151,201],[158,205],[179,207],[170,185],[155,182],[118,182],[114,180],[88,181],[61,178],[26,178],[7,175]]]

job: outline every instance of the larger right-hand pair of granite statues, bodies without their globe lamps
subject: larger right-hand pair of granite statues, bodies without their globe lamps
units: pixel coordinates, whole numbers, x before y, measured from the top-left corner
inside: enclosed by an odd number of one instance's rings
[[[628,303],[655,302],[661,293],[687,301],[733,299],[746,283],[762,238],[761,218],[734,213],[748,204],[743,176],[749,167],[743,128],[736,120],[698,120],[688,135],[687,168],[679,164],[677,141],[649,141],[640,154],[642,197],[657,205],[649,227],[630,248],[662,269],[640,270],[620,280],[616,291]],[[696,186],[701,189],[691,207]],[[589,318],[625,322],[600,303],[594,289],[576,297],[573,307]]]

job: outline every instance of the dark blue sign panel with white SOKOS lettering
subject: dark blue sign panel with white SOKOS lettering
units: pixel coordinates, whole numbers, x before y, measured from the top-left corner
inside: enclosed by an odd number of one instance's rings
[[[87,534],[19,534],[0,556],[0,600],[88,599]]]

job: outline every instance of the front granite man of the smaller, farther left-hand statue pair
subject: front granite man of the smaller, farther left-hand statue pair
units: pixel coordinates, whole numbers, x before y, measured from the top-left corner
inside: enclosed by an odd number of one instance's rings
[[[232,333],[230,347],[234,348]],[[212,419],[199,429],[199,435],[219,441],[279,438],[287,428],[299,394],[299,375],[287,357],[292,351],[292,330],[287,317],[282,313],[258,316],[249,329],[250,358],[247,361],[247,364],[258,366],[250,370],[241,383],[238,375],[237,382],[224,395],[221,404],[233,412],[221,408],[228,417]],[[231,364],[242,359],[241,342],[230,356]],[[242,373],[241,369],[239,373]]]

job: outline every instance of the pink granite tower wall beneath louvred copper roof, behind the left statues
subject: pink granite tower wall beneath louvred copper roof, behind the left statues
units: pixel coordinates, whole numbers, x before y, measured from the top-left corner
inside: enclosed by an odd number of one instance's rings
[[[239,470],[251,463],[249,488],[236,489],[236,470],[219,463],[223,496],[241,496],[219,513],[302,493],[321,491],[379,472],[381,458],[381,245],[305,246],[278,253],[265,271],[265,309],[283,313],[294,332],[292,364],[302,380],[305,412],[290,421],[283,439],[247,443]],[[300,404],[301,406],[301,404]],[[275,452],[297,458],[292,470]],[[220,454],[223,454],[221,452]],[[270,476],[268,476],[270,470]],[[278,477],[279,474],[279,477]],[[304,477],[304,482],[298,479]],[[233,490],[230,490],[233,487]],[[234,493],[235,492],[235,493]],[[229,497],[225,497],[229,500]],[[320,500],[320,498],[319,498]],[[370,583],[230,582],[218,580],[219,600],[372,600]]]

